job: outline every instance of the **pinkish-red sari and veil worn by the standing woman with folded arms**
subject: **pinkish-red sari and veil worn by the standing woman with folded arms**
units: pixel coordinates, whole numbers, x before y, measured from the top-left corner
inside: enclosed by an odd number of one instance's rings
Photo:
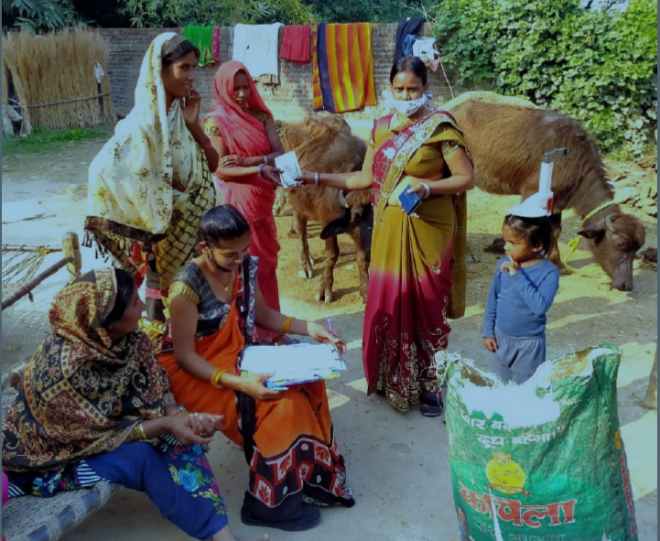
[[[272,113],[259,96],[247,68],[240,62],[225,62],[215,75],[215,103],[206,118],[213,118],[230,154],[251,158],[271,153],[263,123],[244,111],[233,99],[234,77],[244,72],[250,83],[248,108]],[[206,120],[206,118],[204,120]],[[220,192],[226,204],[235,206],[250,223],[252,243],[250,254],[259,258],[258,281],[268,306],[280,309],[277,285],[277,227],[273,217],[275,187],[269,180],[253,175],[240,180],[219,180]]]

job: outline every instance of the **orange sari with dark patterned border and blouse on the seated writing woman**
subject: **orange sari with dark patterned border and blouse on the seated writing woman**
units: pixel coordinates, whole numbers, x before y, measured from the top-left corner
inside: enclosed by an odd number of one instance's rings
[[[180,292],[193,300],[192,290],[199,297],[203,316],[204,309],[222,303],[209,298],[211,290],[193,265],[184,267],[172,295]],[[234,300],[226,313],[220,312],[219,328],[195,338],[201,357],[234,374],[239,373],[241,352],[254,335],[254,302],[250,299],[256,290],[256,269],[256,259],[246,258]],[[177,286],[177,281],[188,289]],[[223,415],[223,433],[244,448],[250,464],[246,504],[253,515],[284,520],[298,516],[303,501],[346,507],[355,503],[346,484],[344,458],[337,450],[324,382],[294,386],[282,391],[277,400],[261,401],[228,388],[211,387],[182,369],[172,352],[162,352],[158,360],[170,376],[177,403],[189,411]]]

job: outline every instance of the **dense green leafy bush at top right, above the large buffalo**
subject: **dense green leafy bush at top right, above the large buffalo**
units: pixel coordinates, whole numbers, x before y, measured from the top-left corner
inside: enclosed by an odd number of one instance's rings
[[[463,89],[524,95],[579,120],[604,151],[657,145],[654,0],[444,0],[434,34]]]

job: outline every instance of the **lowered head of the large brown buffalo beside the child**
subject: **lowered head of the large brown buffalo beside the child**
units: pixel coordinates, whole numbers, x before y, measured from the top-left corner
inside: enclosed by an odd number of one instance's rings
[[[633,260],[646,240],[639,218],[614,210],[596,214],[579,232],[591,244],[596,262],[612,278],[612,289],[632,291]]]

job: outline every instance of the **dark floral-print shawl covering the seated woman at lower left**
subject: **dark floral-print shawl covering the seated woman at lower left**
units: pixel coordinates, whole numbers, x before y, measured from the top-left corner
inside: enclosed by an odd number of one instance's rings
[[[2,425],[5,470],[60,469],[115,450],[141,420],[174,404],[169,379],[142,332],[111,342],[100,323],[117,296],[114,269],[65,287],[50,334],[28,364]]]

